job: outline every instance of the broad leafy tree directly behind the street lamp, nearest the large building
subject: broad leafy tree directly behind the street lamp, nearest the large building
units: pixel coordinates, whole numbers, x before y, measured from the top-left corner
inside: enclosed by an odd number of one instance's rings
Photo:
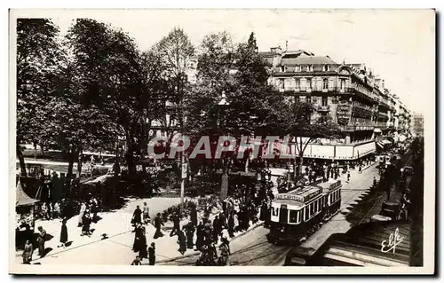
[[[253,33],[247,43],[234,45],[226,32],[206,35],[198,56],[198,83],[188,99],[188,116],[194,136],[230,135],[240,141],[242,135],[270,135],[279,124],[275,111],[281,101],[267,85],[266,62],[258,54]],[[222,94],[228,104],[219,106]],[[238,143],[239,145],[239,143]],[[216,147],[216,145],[214,145]],[[238,147],[239,148],[239,147]],[[223,153],[219,164],[228,170],[232,153]],[[247,167],[248,153],[245,154]],[[237,159],[237,158],[236,158]]]

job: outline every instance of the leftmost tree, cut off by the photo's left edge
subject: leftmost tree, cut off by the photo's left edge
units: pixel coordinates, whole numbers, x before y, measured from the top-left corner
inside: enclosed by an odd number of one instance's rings
[[[20,145],[25,142],[52,144],[54,134],[48,102],[63,52],[59,48],[59,28],[48,19],[17,20],[17,140],[16,152],[21,175],[26,176]]]

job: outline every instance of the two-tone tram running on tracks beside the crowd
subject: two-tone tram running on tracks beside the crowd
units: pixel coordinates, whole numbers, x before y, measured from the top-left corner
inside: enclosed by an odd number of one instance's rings
[[[332,181],[277,194],[267,240],[274,244],[305,240],[340,210],[341,188],[341,181]]]

